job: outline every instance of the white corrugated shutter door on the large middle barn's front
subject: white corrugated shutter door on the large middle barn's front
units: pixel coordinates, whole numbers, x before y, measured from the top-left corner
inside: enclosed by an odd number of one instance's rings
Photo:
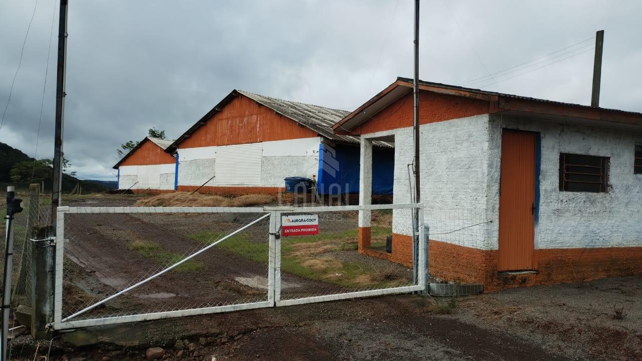
[[[214,184],[217,186],[260,186],[263,145],[261,143],[216,147]]]

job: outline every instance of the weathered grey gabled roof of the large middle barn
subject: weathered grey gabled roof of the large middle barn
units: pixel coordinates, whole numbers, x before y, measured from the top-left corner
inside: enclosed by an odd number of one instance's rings
[[[344,143],[354,143],[359,144],[360,138],[358,136],[349,136],[342,134],[334,134],[332,126],[343,119],[345,116],[350,114],[350,112],[339,109],[331,109],[326,107],[320,107],[318,105],[312,105],[307,103],[299,103],[298,101],[289,101],[282,100],[279,98],[272,98],[271,96],[259,95],[253,92],[239,91],[234,89],[230,94],[225,96],[212,110],[207,112],[199,121],[195,123],[192,127],[187,129],[187,131],[176,139],[170,146],[167,148],[167,152],[174,152],[180,142],[184,141],[190,134],[196,131],[202,125],[205,125],[205,122],[212,118],[216,112],[223,110],[223,107],[227,105],[235,96],[238,95],[246,96],[257,103],[268,107],[277,114],[281,114],[286,118],[290,118],[293,121],[296,121],[303,127],[309,128],[314,132],[317,132],[319,136],[325,137],[326,139],[331,139],[333,141],[339,141]],[[376,142],[378,146],[391,146],[389,143],[385,142]]]

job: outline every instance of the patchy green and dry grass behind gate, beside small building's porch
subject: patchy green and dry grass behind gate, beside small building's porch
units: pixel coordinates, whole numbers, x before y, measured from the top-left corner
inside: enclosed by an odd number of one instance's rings
[[[372,227],[372,234],[390,234],[388,227]],[[189,235],[202,245],[216,242],[225,233],[203,231]],[[403,270],[394,265],[376,269],[360,261],[342,261],[334,252],[356,251],[358,231],[349,229],[324,232],[316,236],[281,238],[281,270],[296,276],[346,287],[390,287],[405,281]],[[268,242],[256,242],[247,234],[235,234],[216,245],[258,263],[268,263]]]

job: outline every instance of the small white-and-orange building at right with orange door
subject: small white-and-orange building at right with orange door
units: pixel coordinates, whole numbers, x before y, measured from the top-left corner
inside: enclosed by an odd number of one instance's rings
[[[394,202],[412,200],[413,81],[398,78],[334,125],[361,137],[361,180],[376,177],[375,141],[393,142]],[[420,82],[420,184],[429,273],[506,286],[642,274],[642,114]],[[369,204],[366,192],[360,204]],[[395,209],[392,252],[412,265]],[[369,214],[368,214],[369,215]]]

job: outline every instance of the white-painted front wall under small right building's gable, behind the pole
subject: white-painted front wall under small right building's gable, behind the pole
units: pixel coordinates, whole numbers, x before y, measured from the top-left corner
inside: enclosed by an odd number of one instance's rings
[[[431,233],[448,233],[486,220],[488,115],[452,119],[421,125],[421,201],[424,222]],[[410,203],[414,193],[412,127],[385,130],[363,137],[395,137],[394,202]],[[406,214],[408,213],[408,214]],[[410,211],[395,209],[393,232],[412,234]],[[465,231],[440,234],[431,239],[467,247],[488,249],[485,225]]]

